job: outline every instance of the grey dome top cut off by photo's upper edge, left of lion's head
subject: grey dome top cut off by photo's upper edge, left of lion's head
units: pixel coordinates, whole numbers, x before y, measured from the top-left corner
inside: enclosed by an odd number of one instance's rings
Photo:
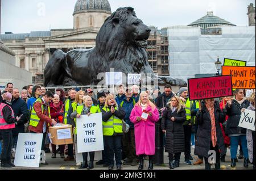
[[[77,0],[73,15],[82,12],[106,12],[111,14],[108,0]]]

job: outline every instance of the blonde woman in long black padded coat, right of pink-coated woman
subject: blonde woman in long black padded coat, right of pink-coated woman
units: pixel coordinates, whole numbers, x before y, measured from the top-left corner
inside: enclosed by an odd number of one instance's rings
[[[179,96],[173,96],[163,111],[161,129],[166,133],[166,149],[169,154],[170,169],[179,167],[181,152],[185,151],[183,123],[186,120],[184,104]],[[175,157],[175,162],[172,163]]]

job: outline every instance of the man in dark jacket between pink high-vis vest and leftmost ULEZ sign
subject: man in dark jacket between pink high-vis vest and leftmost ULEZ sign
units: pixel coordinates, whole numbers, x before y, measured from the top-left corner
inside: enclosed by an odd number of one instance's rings
[[[19,97],[19,89],[13,89],[13,101],[11,102],[14,116],[19,116],[20,120],[13,129],[13,146],[16,149],[19,133],[24,133],[24,124],[27,123],[27,104]],[[21,115],[21,116],[20,116]]]

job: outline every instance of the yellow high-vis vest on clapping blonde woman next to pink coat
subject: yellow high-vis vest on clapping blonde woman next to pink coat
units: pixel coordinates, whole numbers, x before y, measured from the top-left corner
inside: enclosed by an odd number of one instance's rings
[[[102,110],[108,112],[110,111],[109,108],[102,108]],[[117,110],[117,107],[115,107],[115,110]],[[114,133],[123,133],[122,130],[122,120],[119,119],[116,116],[111,116],[108,121],[102,121],[103,126],[103,135],[104,136],[113,136]]]

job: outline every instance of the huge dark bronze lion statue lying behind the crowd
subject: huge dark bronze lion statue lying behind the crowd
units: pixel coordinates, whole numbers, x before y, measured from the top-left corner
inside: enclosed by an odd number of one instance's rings
[[[53,53],[44,69],[44,86],[97,85],[98,73],[110,68],[153,76],[145,50],[150,31],[132,7],[117,9],[100,28],[95,48]]]

